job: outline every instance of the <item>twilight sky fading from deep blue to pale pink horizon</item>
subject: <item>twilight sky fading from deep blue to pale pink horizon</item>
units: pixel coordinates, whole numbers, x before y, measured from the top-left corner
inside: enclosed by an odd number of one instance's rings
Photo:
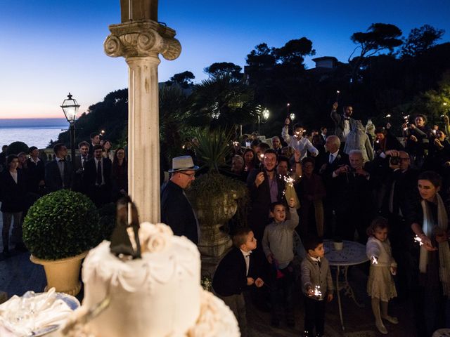
[[[374,22],[397,25],[405,36],[424,24],[442,28],[442,43],[450,41],[449,18],[449,0],[160,0],[159,21],[176,30],[182,51],[174,61],[160,57],[159,77],[189,70],[200,81],[213,62],[243,67],[257,44],[281,47],[300,37],[313,41],[314,57],[345,62],[354,49],[349,37]],[[103,52],[115,23],[119,0],[0,0],[0,119],[63,117],[69,91],[81,113],[126,88],[124,58]],[[306,63],[314,67],[311,58]]]

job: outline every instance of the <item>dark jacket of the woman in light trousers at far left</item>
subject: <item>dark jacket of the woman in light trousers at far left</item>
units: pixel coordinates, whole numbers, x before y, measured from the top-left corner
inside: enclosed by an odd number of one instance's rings
[[[25,209],[26,182],[22,170],[17,170],[17,183],[8,170],[3,171],[0,175],[0,188],[0,211],[16,213]]]

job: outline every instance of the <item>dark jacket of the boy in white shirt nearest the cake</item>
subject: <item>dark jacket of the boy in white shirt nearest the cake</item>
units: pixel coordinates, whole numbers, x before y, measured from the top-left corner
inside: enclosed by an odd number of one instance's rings
[[[247,277],[252,277],[253,279],[259,277],[259,266],[253,253],[250,254],[248,275],[245,275],[246,270],[243,253],[240,249],[233,247],[219,262],[212,279],[212,288],[220,296],[242,293],[247,288]]]

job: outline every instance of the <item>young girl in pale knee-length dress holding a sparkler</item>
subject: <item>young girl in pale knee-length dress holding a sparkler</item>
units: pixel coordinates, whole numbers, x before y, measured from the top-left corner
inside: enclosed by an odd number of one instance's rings
[[[392,275],[397,273],[397,263],[392,258],[391,244],[387,239],[387,219],[373,219],[367,229],[366,253],[371,260],[371,271],[367,282],[367,293],[372,298],[372,310],[375,316],[375,326],[380,333],[386,334],[387,329],[382,318],[392,324],[397,324],[397,317],[387,315],[387,303],[397,297]],[[380,310],[381,307],[381,310]]]

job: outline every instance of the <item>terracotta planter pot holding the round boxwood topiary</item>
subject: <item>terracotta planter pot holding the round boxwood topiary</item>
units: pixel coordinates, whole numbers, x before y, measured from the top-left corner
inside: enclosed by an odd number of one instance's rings
[[[37,265],[43,265],[47,277],[45,291],[55,287],[56,291],[68,293],[76,296],[82,288],[79,281],[79,270],[82,266],[82,259],[87,255],[87,251],[70,258],[60,260],[42,260],[31,255],[30,260]]]

